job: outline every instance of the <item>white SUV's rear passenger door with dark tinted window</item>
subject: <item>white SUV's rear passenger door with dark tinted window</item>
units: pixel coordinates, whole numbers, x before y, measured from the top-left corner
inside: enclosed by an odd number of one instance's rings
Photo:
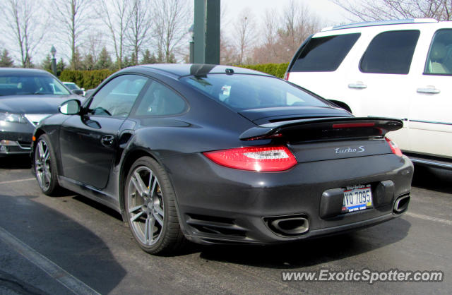
[[[372,28],[369,28],[371,30]],[[347,100],[357,102],[355,116],[391,117],[407,120],[410,92],[417,73],[410,66],[420,30],[371,30],[362,55],[347,71]],[[405,150],[410,149],[408,125],[390,137]]]

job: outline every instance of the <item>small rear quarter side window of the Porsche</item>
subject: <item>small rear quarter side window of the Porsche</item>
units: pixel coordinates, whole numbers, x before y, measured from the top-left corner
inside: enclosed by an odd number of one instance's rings
[[[162,83],[153,81],[138,104],[135,116],[170,116],[186,109],[185,100]]]

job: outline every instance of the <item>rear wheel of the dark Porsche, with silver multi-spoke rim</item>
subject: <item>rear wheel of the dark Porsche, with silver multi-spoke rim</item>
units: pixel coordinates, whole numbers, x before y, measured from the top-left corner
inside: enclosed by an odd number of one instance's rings
[[[141,157],[133,163],[124,186],[124,208],[143,251],[170,254],[184,245],[175,198],[165,170],[155,159]]]

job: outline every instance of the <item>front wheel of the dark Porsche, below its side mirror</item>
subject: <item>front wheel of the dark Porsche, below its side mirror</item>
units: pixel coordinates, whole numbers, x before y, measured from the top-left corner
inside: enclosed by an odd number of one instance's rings
[[[60,190],[55,159],[49,136],[42,134],[35,147],[35,176],[42,193],[46,195],[56,195]]]

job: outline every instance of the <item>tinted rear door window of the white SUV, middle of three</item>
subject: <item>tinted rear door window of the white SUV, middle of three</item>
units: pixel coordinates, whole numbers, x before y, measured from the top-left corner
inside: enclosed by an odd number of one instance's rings
[[[408,74],[419,30],[382,32],[376,35],[362,56],[363,73]]]

